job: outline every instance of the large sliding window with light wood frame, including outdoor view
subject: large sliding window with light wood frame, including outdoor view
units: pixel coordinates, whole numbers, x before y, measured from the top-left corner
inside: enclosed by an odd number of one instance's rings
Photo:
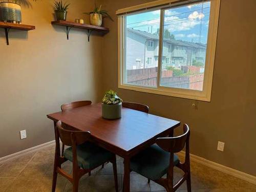
[[[220,0],[170,2],[117,11],[118,87],[210,101]]]

